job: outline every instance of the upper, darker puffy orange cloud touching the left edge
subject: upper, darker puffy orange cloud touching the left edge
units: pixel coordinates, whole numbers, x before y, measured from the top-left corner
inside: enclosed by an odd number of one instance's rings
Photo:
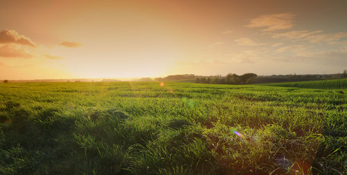
[[[36,44],[24,35],[19,35],[15,30],[3,29],[0,31],[0,43],[3,44],[22,44],[35,47]]]

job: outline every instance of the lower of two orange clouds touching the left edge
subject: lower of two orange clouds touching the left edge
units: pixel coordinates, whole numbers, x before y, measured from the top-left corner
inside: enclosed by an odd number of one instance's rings
[[[0,57],[30,58],[33,57],[33,55],[31,55],[31,53],[29,53],[25,48],[21,48],[13,44],[6,44],[0,46]]]

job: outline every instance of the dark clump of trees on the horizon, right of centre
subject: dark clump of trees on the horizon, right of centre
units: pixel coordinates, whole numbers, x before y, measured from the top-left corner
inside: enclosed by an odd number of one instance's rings
[[[245,73],[244,75],[237,75],[229,73],[226,77],[197,77],[195,82],[205,84],[249,84],[254,77],[257,77],[257,74]]]

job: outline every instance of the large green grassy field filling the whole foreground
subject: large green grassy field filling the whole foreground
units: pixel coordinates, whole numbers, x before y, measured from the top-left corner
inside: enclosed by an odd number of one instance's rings
[[[347,89],[323,87],[0,84],[0,174],[346,174]]]

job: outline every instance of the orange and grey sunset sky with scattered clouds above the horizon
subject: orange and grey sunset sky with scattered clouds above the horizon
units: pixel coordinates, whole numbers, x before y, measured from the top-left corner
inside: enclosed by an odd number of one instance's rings
[[[341,73],[347,1],[0,0],[0,79]]]

